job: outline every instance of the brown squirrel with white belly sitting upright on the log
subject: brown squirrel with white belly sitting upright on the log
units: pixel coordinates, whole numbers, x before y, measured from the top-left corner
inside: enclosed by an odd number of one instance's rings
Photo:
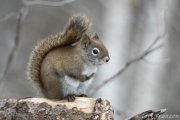
[[[100,65],[110,60],[85,15],[73,15],[63,32],[43,39],[33,48],[27,77],[48,99],[74,101],[86,93]]]

